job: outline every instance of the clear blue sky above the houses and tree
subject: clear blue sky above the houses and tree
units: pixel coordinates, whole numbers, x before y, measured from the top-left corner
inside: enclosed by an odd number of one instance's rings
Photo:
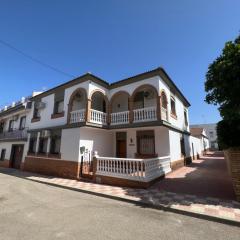
[[[216,122],[217,108],[204,103],[205,73],[239,34],[239,9],[239,0],[1,0],[0,40],[109,82],[162,66],[191,102],[190,122]],[[0,43],[0,105],[70,79]]]

